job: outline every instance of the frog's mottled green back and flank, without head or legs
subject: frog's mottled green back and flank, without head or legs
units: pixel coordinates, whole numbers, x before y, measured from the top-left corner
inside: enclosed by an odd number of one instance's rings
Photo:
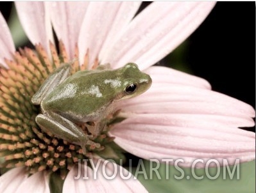
[[[105,95],[105,85],[98,78],[95,70],[71,75],[45,98],[44,109],[72,116],[73,120],[96,118],[110,105],[113,95],[111,91]]]

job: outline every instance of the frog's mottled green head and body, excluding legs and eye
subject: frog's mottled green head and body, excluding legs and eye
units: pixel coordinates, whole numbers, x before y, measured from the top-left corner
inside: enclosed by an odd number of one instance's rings
[[[124,89],[132,83],[137,84],[137,91],[126,95]],[[115,100],[140,95],[150,84],[149,75],[142,73],[134,64],[117,70],[80,71],[49,93],[41,107],[44,111],[55,111],[74,121],[97,121],[105,116]]]

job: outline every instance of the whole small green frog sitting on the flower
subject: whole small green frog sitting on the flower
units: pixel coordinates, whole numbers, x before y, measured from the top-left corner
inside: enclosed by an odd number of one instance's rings
[[[109,64],[95,70],[72,72],[72,63],[62,63],[31,97],[40,105],[35,121],[44,132],[81,146],[100,147],[93,140],[103,131],[108,114],[117,102],[147,91],[151,77],[135,63],[112,69]],[[80,125],[85,125],[85,130]]]

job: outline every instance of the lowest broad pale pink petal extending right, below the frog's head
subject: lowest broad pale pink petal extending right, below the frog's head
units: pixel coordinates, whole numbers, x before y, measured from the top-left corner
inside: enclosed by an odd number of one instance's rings
[[[239,122],[239,121],[237,121]],[[226,123],[226,124],[225,124]],[[255,159],[255,133],[232,127],[224,118],[205,115],[137,114],[115,125],[110,133],[115,143],[138,157],[181,158],[180,166],[191,167],[197,158],[214,158],[234,164],[235,159]]]

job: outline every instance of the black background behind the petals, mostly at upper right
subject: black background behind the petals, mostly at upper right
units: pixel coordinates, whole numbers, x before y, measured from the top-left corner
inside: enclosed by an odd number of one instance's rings
[[[6,20],[11,8],[11,2],[0,3]],[[182,62],[190,72],[255,107],[255,2],[218,2],[185,45]],[[175,53],[162,61],[177,68]]]

